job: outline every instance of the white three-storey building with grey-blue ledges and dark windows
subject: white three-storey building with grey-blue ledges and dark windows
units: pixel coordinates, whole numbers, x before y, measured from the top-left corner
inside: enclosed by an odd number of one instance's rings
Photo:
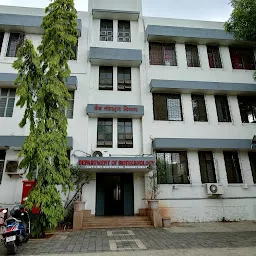
[[[12,63],[24,34],[39,45],[43,14],[0,8],[2,206],[20,201],[26,179],[10,173],[29,132],[18,125]],[[143,17],[140,0],[91,0],[78,30],[66,114],[71,163],[94,174],[85,208],[137,214],[149,166],[160,161],[158,198],[173,221],[255,220],[255,44],[235,41],[220,22]]]

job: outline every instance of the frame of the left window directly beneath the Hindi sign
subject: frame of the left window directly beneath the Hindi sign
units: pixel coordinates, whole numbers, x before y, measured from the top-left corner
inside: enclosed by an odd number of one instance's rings
[[[100,132],[100,122],[104,122],[103,129],[105,127],[111,127],[111,133],[110,132]],[[106,124],[107,122],[111,122],[110,125]],[[99,139],[99,135],[103,134],[104,139]],[[111,135],[111,140],[106,140],[106,135]],[[103,141],[103,144],[100,144],[99,141]],[[98,148],[112,148],[113,147],[113,118],[98,118],[97,120],[97,147]]]

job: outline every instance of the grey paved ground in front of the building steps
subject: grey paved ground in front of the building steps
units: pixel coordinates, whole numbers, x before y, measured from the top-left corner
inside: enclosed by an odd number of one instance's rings
[[[256,256],[256,224],[174,224],[170,229],[131,228],[61,232],[29,241],[18,255],[244,255]],[[0,246],[0,255],[5,255]]]

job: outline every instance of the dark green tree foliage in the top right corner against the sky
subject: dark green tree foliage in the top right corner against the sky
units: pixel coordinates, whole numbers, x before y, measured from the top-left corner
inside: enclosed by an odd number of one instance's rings
[[[231,5],[234,9],[224,25],[225,30],[232,33],[236,40],[256,42],[256,1],[231,0]]]

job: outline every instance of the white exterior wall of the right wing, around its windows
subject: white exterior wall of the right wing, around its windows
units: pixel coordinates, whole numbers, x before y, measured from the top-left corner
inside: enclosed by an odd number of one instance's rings
[[[186,21],[173,19],[145,18],[145,26],[165,25],[177,27],[196,27],[222,29],[223,23]],[[168,42],[168,40],[166,40]],[[184,121],[156,121],[153,116],[152,93],[149,90],[151,79],[207,81],[229,83],[254,83],[253,71],[234,70],[229,49],[221,46],[222,69],[210,69],[207,48],[198,40],[198,52],[201,67],[187,67],[185,44],[176,43],[177,66],[155,66],[149,64],[149,44],[145,46],[146,80],[142,86],[143,103],[148,111],[143,118],[144,152],[152,153],[154,138],[205,138],[205,139],[252,139],[255,135],[255,124],[243,124],[240,117],[237,97],[228,96],[231,112],[231,123],[219,123],[217,118],[214,94],[205,93],[205,104],[208,122],[195,122],[191,94],[181,92]],[[171,93],[171,92],[170,92]],[[225,94],[225,93],[223,93]],[[147,127],[151,127],[147,129]],[[159,132],[161,131],[161,133]],[[223,199],[208,199],[206,185],[201,183],[197,151],[188,149],[190,173],[189,185],[160,185],[160,207],[162,212],[178,222],[253,220],[255,212],[255,189],[247,152],[239,152],[243,184],[228,184],[223,151],[214,153],[217,182],[223,185]],[[245,185],[246,184],[246,185]]]

